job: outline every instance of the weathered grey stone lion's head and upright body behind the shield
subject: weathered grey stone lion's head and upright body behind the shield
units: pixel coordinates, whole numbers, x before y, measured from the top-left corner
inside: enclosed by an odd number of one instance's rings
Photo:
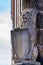
[[[22,28],[28,28],[30,35],[30,53],[28,57],[31,58],[34,44],[36,44],[36,16],[37,11],[33,9],[26,9],[23,11],[23,26]]]

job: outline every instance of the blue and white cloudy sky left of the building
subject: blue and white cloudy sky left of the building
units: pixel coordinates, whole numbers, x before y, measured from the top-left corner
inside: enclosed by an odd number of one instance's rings
[[[11,65],[11,0],[0,0],[0,65]]]

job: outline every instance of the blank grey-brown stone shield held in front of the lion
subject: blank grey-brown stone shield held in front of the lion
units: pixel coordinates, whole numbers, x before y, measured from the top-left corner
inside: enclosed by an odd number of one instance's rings
[[[12,48],[18,58],[25,58],[29,52],[29,31],[28,29],[15,29],[11,32]]]

